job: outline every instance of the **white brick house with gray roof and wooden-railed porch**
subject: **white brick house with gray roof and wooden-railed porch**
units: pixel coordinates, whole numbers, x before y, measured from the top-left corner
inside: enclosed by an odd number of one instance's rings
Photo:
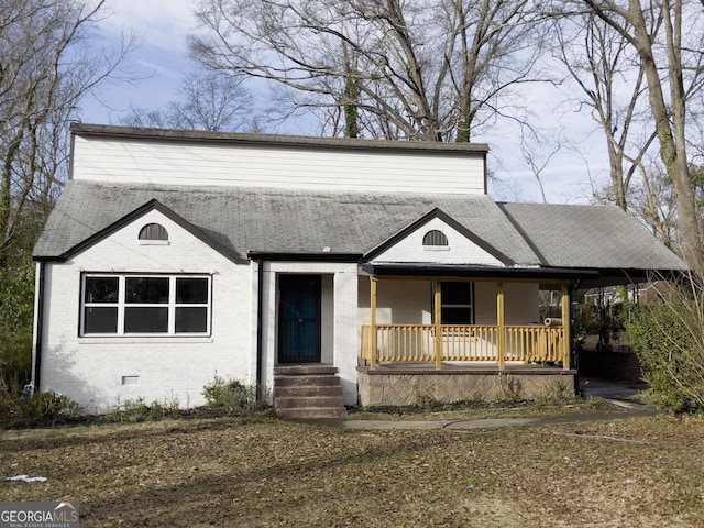
[[[494,202],[487,150],[74,125],[35,389],[187,407],[217,374],[287,416],[573,391],[573,288],[685,266],[617,208]]]

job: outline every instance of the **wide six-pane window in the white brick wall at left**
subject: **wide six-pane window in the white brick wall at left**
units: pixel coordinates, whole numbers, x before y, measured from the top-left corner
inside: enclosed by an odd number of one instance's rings
[[[86,274],[81,336],[208,334],[210,276]]]

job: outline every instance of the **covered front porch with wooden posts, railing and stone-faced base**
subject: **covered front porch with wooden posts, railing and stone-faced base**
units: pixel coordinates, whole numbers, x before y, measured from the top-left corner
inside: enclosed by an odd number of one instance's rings
[[[572,279],[468,275],[369,276],[369,323],[361,327],[358,367],[361,405],[574,395],[576,371],[564,323],[571,319]],[[472,285],[466,305],[457,296],[463,283]],[[429,320],[396,323],[395,314],[408,319],[408,307],[422,304],[422,295],[410,294],[419,288],[429,290],[420,310]],[[557,294],[561,317],[537,317],[540,289]],[[457,323],[460,308],[468,323]]]

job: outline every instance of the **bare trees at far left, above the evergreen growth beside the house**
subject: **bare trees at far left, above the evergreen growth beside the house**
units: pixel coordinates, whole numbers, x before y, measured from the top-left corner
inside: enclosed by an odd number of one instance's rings
[[[0,10],[0,256],[42,221],[67,169],[80,99],[129,52],[89,45],[103,3],[6,0]]]

